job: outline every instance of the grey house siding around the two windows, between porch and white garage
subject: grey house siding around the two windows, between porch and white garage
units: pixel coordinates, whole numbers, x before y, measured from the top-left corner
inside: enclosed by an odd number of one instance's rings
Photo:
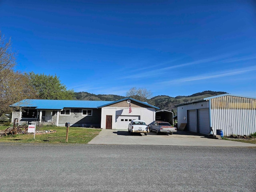
[[[68,109],[68,108],[64,108]],[[59,124],[65,124],[66,122],[70,122],[70,124],[74,124],[73,126],[82,127],[83,124],[86,124],[86,127],[94,126],[100,127],[100,109],[88,109],[92,110],[92,116],[83,116],[82,109],[71,108],[70,115],[61,115],[59,116]]]

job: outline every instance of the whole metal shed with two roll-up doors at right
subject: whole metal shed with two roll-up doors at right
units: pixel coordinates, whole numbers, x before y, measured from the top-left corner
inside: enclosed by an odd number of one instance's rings
[[[200,134],[224,136],[250,135],[256,132],[256,98],[222,94],[175,105],[178,107],[178,128],[187,124],[187,130]]]

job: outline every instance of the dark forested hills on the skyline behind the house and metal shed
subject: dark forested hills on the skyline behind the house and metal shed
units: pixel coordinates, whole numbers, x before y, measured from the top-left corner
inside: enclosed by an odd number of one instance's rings
[[[160,110],[170,110],[173,111],[175,114],[177,113],[177,108],[174,105],[188,102],[192,100],[197,100],[201,98],[216,96],[220,94],[226,94],[227,92],[215,92],[215,91],[203,91],[199,93],[195,93],[189,96],[176,96],[170,97],[166,95],[155,96],[151,99],[148,99],[147,102],[151,105],[159,107]],[[95,101],[117,101],[120,99],[125,98],[124,96],[119,95],[102,95],[102,94],[91,94],[88,92],[75,92],[76,100],[95,100]]]

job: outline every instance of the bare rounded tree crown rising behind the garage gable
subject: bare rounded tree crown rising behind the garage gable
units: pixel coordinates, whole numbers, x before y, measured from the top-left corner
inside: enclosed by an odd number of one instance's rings
[[[134,98],[139,101],[147,101],[152,97],[152,92],[147,90],[146,88],[131,88],[128,92],[126,92],[126,97]]]

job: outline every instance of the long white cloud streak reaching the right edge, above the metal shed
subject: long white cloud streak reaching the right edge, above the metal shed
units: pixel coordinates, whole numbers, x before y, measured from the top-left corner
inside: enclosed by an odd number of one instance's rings
[[[180,83],[180,82],[189,82],[189,81],[196,81],[196,80],[206,80],[206,79],[212,79],[212,78],[234,76],[234,75],[243,74],[243,73],[251,72],[251,71],[255,71],[255,70],[256,70],[256,66],[250,66],[250,67],[246,67],[246,68],[227,70],[224,72],[219,71],[219,72],[215,72],[215,73],[207,73],[207,74],[202,74],[202,75],[198,75],[198,76],[190,76],[188,78],[180,78],[180,79],[176,79],[176,80],[165,81],[162,83],[166,84],[166,83]]]

